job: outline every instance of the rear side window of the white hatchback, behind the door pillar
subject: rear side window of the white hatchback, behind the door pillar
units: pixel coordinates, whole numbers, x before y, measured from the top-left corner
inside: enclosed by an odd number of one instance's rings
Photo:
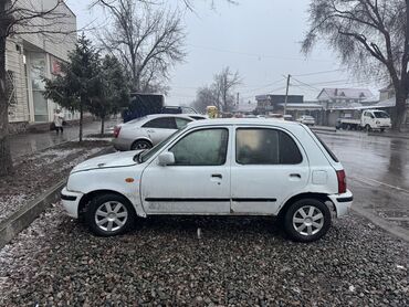
[[[298,165],[303,156],[286,133],[239,128],[235,134],[235,160],[240,165]]]

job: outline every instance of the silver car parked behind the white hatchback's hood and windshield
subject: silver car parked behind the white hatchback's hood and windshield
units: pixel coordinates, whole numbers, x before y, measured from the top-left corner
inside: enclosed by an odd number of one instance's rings
[[[114,147],[117,150],[147,149],[176,130],[195,120],[185,115],[155,114],[139,117],[114,128]]]

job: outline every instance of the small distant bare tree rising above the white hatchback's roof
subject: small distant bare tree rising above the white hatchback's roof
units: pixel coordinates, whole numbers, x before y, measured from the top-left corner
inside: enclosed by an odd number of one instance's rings
[[[214,75],[213,86],[217,93],[218,107],[222,106],[223,112],[229,112],[232,108],[232,91],[241,84],[239,72],[231,72],[230,67],[224,67],[219,74]]]

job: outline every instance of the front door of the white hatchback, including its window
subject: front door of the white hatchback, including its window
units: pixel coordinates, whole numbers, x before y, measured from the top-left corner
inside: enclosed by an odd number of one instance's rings
[[[175,163],[160,166],[156,157],[143,172],[145,211],[148,214],[229,213],[229,136],[228,128],[200,128],[169,145],[162,152],[172,152]]]

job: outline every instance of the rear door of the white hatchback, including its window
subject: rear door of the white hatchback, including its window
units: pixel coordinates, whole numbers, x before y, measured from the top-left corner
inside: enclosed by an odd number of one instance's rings
[[[307,184],[302,147],[286,131],[237,128],[231,165],[231,212],[276,214],[280,204]]]

